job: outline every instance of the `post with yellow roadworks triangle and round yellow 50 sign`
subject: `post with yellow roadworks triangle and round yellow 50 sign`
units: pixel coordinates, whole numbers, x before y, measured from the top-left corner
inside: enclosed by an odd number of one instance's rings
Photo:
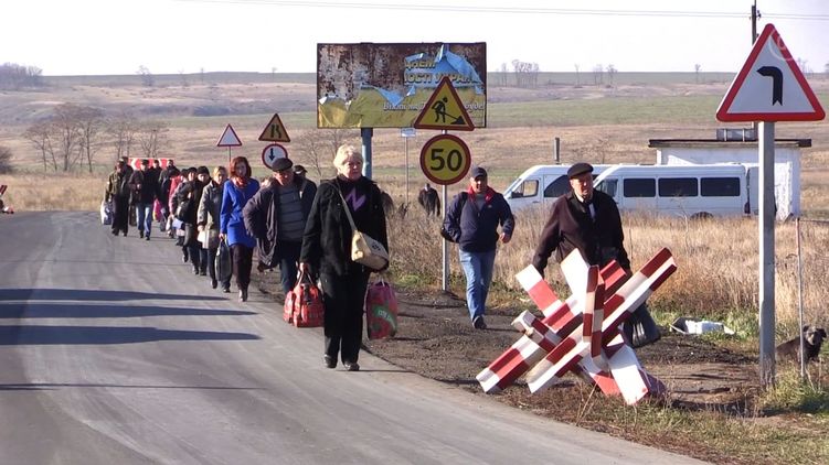
[[[442,186],[440,202],[446,217],[448,206],[447,185],[461,181],[471,166],[469,147],[448,130],[472,131],[475,125],[466,111],[458,93],[448,76],[444,76],[435,87],[432,97],[421,110],[413,125],[416,129],[437,129],[442,133],[429,139],[421,150],[421,170],[435,184]],[[443,275],[440,289],[449,290],[449,242],[440,238]]]

